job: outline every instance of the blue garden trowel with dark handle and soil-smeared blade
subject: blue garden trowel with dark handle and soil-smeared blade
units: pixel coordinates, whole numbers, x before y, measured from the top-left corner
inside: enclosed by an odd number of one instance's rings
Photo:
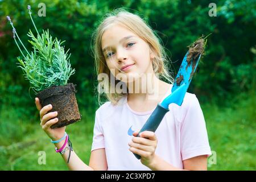
[[[156,106],[156,109],[147,119],[146,123],[139,131],[137,137],[140,137],[139,134],[142,133],[143,131],[155,132],[160,122],[162,121],[164,115],[168,111],[170,111],[168,109],[168,106],[171,103],[175,103],[179,106],[181,106],[181,104],[183,103],[185,93],[188,90],[188,86],[192,80],[193,74],[196,71],[196,67],[197,64],[199,63],[201,54],[204,51],[204,41],[202,41],[203,39],[199,40],[197,40],[193,44],[194,47],[189,48],[189,51],[184,56],[179,72],[177,73],[174,84],[172,86],[171,94],[164,98],[164,100],[160,102],[158,106]],[[141,159],[141,156],[137,154],[134,155],[136,156],[137,159]]]

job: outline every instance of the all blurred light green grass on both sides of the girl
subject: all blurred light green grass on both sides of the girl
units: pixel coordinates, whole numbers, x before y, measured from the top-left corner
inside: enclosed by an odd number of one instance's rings
[[[230,107],[201,105],[207,122],[208,137],[216,164],[209,170],[255,170],[255,94],[241,95],[230,101]],[[93,137],[94,114],[81,110],[82,120],[67,127],[77,155],[89,163]],[[0,113],[0,170],[68,170],[55,146],[39,125],[38,116],[30,121],[15,113],[15,108]],[[38,155],[46,152],[46,164]],[[210,156],[212,159],[213,156]]]

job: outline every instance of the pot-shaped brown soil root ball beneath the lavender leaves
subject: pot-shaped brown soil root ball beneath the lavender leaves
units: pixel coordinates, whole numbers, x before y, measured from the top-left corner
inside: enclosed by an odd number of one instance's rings
[[[57,111],[59,121],[51,128],[58,128],[70,125],[81,119],[76,101],[76,89],[72,83],[65,86],[52,86],[37,94],[42,107],[51,104],[49,112]]]

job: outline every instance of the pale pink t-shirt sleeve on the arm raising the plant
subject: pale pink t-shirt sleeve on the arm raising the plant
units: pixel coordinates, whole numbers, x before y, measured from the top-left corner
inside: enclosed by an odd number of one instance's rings
[[[91,152],[98,148],[105,148],[104,134],[102,132],[102,127],[100,124],[101,124],[100,119],[98,118],[98,114],[96,112],[94,128],[93,128],[92,149],[90,150]]]

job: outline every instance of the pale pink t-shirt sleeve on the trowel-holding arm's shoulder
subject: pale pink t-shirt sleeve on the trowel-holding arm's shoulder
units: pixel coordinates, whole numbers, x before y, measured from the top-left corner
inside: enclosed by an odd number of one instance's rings
[[[187,113],[181,123],[182,160],[211,154],[203,111],[196,95],[192,94]]]

